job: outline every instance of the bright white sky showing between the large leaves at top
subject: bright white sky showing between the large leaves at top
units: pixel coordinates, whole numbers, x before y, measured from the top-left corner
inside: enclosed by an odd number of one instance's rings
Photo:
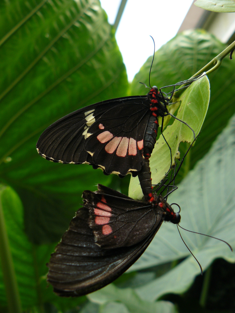
[[[100,0],[113,24],[121,0]],[[116,40],[126,65],[128,80],[132,81],[146,59],[173,38],[192,0],[128,0],[120,20]]]

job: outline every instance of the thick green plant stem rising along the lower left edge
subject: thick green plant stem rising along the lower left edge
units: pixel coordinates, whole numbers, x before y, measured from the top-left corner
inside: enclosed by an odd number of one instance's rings
[[[6,290],[8,312],[21,313],[21,302],[16,281],[14,264],[9,247],[8,235],[4,220],[2,195],[6,187],[0,189],[0,259],[3,271],[3,281]]]

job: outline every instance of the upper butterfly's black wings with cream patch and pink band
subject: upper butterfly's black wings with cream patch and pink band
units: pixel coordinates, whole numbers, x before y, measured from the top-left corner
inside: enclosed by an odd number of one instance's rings
[[[102,101],[50,125],[39,137],[37,150],[53,162],[88,163],[105,174],[136,176],[151,114],[146,96]]]

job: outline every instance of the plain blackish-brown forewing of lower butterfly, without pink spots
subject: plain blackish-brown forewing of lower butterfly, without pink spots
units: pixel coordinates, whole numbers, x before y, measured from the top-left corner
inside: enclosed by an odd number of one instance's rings
[[[55,253],[47,264],[48,281],[60,296],[81,296],[96,291],[122,275],[144,252],[163,218],[159,215],[155,230],[130,247],[102,249],[95,243],[88,226],[89,211],[81,208],[70,222]]]

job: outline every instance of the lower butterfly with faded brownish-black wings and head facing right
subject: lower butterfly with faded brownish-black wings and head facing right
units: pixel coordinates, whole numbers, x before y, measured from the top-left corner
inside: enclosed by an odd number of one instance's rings
[[[163,221],[180,222],[163,196],[134,200],[98,184],[51,254],[47,280],[60,296],[81,296],[123,274],[148,247]]]

